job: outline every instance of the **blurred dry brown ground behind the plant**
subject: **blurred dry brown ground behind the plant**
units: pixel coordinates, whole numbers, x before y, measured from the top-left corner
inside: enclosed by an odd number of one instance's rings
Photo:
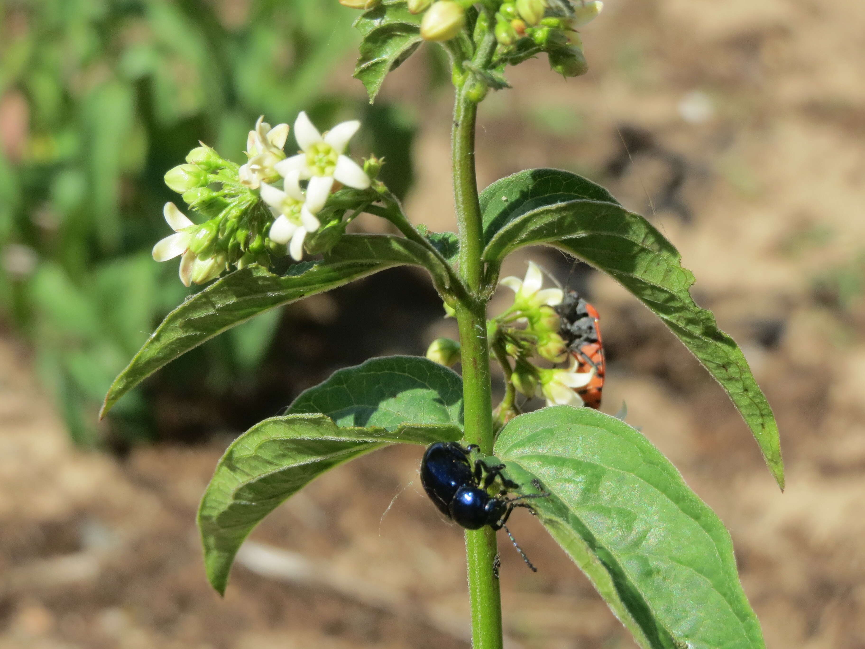
[[[863,24],[855,0],[611,0],[586,29],[592,73],[566,82],[546,61],[512,71],[514,89],[484,104],[478,136],[482,184],[559,166],[657,212],[698,278],[695,297],[745,348],[779,418],[783,495],[682,346],[611,282],[573,273],[603,318],[604,409],[626,400],[629,421],[726,522],[769,647],[865,648]],[[423,124],[409,208],[452,228],[450,97],[428,92],[426,69],[411,61],[386,93]],[[566,260],[541,256],[567,279]],[[293,321],[332,320],[340,295],[297,306]],[[376,350],[422,353],[446,329],[435,312],[396,312]],[[462,534],[420,492],[420,448],[357,460],[292,498],[254,533],[267,545],[247,552],[221,601],[204,580],[193,518],[229,435],[124,459],[75,453],[29,362],[3,337],[0,649],[468,646]],[[315,380],[330,369],[297,366]],[[524,569],[505,539],[511,645],[632,646],[536,522],[517,518],[540,571]],[[269,576],[256,573],[262,562]]]

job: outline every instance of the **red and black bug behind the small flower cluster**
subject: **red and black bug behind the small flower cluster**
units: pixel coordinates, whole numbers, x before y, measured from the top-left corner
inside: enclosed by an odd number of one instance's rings
[[[561,318],[559,334],[577,361],[577,371],[591,372],[594,369],[592,381],[585,388],[577,389],[577,394],[589,408],[600,408],[606,374],[604,344],[598,324],[600,316],[593,305],[580,298],[576,291],[565,291],[565,298],[555,311]]]

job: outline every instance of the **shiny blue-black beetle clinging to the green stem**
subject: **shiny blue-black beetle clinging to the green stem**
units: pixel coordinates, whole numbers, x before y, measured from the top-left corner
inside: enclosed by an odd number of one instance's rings
[[[520,485],[502,475],[503,464],[488,466],[483,459],[476,459],[472,465],[471,453],[478,448],[473,444],[463,447],[452,441],[432,444],[420,462],[420,483],[439,511],[466,530],[480,530],[484,525],[490,525],[493,530],[504,528],[523,561],[536,571],[505,523],[516,507],[525,507],[535,513],[532,506],[523,501],[545,498],[549,494],[542,492],[506,498],[507,490],[518,489]],[[503,489],[490,496],[487,490],[497,478],[502,481]],[[541,490],[537,480],[533,483]]]

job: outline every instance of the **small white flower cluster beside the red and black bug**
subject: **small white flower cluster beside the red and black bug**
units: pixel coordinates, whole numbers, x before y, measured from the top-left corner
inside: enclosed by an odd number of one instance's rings
[[[543,396],[547,405],[583,404],[576,389],[592,381],[593,372],[578,371],[579,363],[568,354],[567,344],[559,334],[561,319],[554,307],[561,304],[564,293],[560,288],[542,288],[543,273],[533,261],[524,280],[505,277],[502,286],[511,289],[514,304],[496,318],[494,344],[501,344],[505,353],[515,359],[510,376],[514,388],[527,396]],[[531,363],[531,357],[541,357],[551,363],[562,363],[571,356],[567,368],[543,369]]]

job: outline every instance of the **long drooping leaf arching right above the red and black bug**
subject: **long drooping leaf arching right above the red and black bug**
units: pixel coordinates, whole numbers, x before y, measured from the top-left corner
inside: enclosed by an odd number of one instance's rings
[[[547,244],[579,257],[617,280],[661,318],[721,383],[751,428],[772,475],[784,489],[784,461],[772,408],[739,346],[718,328],[712,312],[695,304],[689,292],[694,275],[682,267],[676,247],[650,222],[618,203],[562,200],[561,193],[554,191],[558,185],[548,179],[551,175],[547,171],[535,170],[524,177],[529,184],[534,177],[541,178],[543,191],[536,192],[528,185],[519,190],[517,183],[503,185],[511,192],[503,196],[527,196],[533,208],[530,210],[523,209],[519,199],[509,199],[508,203],[514,203],[509,207],[511,211],[498,212],[495,205],[498,194],[484,190],[485,214],[492,215],[490,224],[501,223],[484,250],[490,274],[497,274],[504,257],[518,247]],[[520,174],[510,178],[517,176]],[[573,183],[578,183],[577,178],[574,177]],[[541,197],[536,197],[539,194]],[[557,197],[561,202],[548,202]],[[537,201],[541,201],[541,207]]]

